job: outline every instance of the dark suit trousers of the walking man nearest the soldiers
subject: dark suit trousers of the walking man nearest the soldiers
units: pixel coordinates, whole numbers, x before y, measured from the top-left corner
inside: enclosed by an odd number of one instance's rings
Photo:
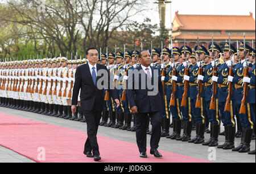
[[[146,118],[148,114],[151,117],[151,125],[152,125],[152,134],[150,139],[150,147],[151,148],[158,148],[158,143],[160,141],[161,136],[161,126],[160,126],[160,118],[161,118],[161,111],[154,112],[154,113],[138,113],[135,115],[135,122],[136,122],[136,139],[137,145],[139,148],[139,152],[146,152],[147,151],[147,123]]]

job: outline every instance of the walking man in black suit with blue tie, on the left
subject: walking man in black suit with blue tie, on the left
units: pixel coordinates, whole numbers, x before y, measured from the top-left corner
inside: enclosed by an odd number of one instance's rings
[[[87,135],[84,154],[87,157],[93,158],[98,161],[101,159],[100,152],[98,150],[97,143],[97,131],[98,125],[100,124],[101,113],[104,107],[104,88],[98,86],[97,81],[102,78],[103,75],[98,73],[98,71],[105,70],[108,74],[108,89],[110,89],[110,76],[108,69],[98,62],[98,50],[97,48],[89,48],[86,51],[86,57],[89,60],[88,64],[81,65],[77,67],[75,74],[75,84],[73,87],[72,96],[72,112],[76,113],[77,98],[79,95],[79,90],[81,88],[80,102],[82,107],[82,112],[84,113],[86,123],[87,123]],[[102,75],[102,76],[100,76]],[[103,82],[100,85],[103,84]],[[108,90],[110,97],[113,98],[117,107],[119,106],[119,100],[115,90]],[[93,152],[93,155],[92,155]]]

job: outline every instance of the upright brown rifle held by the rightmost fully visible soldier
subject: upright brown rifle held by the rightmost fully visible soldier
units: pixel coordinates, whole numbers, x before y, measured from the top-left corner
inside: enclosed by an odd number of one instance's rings
[[[244,72],[243,72],[243,77],[248,77],[248,64],[247,64],[247,51],[245,50],[245,33],[243,33],[243,51],[244,51],[244,55],[245,55],[245,61],[246,61],[246,67],[244,68]],[[241,101],[241,107],[240,107],[240,114],[246,114],[246,97],[248,94],[248,83],[244,82],[243,83],[243,98]]]

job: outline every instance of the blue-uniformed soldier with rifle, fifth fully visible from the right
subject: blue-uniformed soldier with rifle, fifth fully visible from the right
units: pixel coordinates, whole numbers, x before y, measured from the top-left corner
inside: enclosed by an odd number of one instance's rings
[[[192,131],[192,115],[191,115],[191,98],[189,97],[189,85],[188,81],[184,80],[184,76],[189,76],[189,68],[192,67],[189,64],[190,56],[192,54],[192,49],[188,45],[184,45],[180,48],[181,50],[181,59],[183,63],[180,65],[179,70],[177,70],[177,82],[181,85],[178,87],[179,93],[178,98],[180,102],[180,110],[183,115],[183,135],[176,140],[182,140],[187,142],[191,139]],[[181,99],[180,99],[181,98]]]

